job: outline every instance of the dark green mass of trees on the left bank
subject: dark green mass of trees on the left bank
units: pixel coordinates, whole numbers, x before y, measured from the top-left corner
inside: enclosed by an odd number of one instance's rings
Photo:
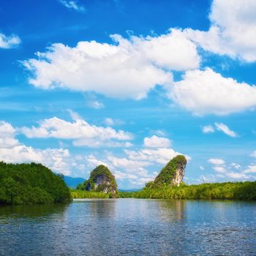
[[[64,203],[71,200],[62,176],[40,164],[0,162],[0,204]]]

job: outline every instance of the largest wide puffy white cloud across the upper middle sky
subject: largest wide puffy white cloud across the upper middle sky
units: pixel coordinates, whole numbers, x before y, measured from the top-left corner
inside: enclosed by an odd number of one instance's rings
[[[94,91],[108,97],[141,99],[173,76],[167,69],[199,67],[195,45],[182,31],[172,29],[159,37],[111,36],[114,43],[78,42],[74,48],[56,43],[37,59],[23,61],[41,89],[56,87]]]

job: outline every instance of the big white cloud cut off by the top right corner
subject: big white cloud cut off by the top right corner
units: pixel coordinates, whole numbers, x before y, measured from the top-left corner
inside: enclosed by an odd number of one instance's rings
[[[187,29],[187,36],[213,53],[256,61],[256,2],[214,0],[208,31]]]

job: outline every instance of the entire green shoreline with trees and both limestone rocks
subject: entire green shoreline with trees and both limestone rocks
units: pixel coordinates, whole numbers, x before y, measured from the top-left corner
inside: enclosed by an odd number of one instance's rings
[[[152,198],[173,200],[256,200],[256,181],[184,184],[186,160],[177,156],[140,191],[118,191],[110,170],[99,165],[91,178],[70,189],[62,175],[41,164],[0,162],[0,206],[69,203],[82,198]],[[178,181],[175,184],[175,181]]]

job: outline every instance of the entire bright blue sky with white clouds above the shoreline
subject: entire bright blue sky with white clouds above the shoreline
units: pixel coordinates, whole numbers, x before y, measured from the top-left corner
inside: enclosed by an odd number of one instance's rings
[[[256,178],[256,1],[1,0],[0,160],[118,187]]]

